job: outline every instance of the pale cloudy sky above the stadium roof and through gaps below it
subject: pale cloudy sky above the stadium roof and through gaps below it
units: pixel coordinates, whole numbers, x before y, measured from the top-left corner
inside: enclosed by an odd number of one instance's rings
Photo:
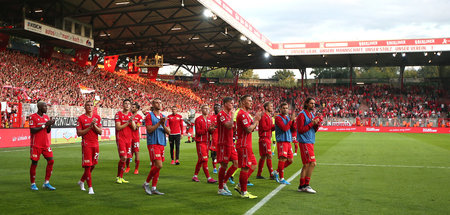
[[[449,0],[225,0],[272,42],[450,36]],[[270,78],[275,70],[255,70]],[[310,69],[307,70],[310,72]],[[300,73],[294,71],[296,78]],[[309,78],[312,78],[309,75]]]

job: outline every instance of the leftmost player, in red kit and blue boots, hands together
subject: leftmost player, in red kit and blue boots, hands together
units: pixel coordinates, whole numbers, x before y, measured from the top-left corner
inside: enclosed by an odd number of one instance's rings
[[[52,130],[52,125],[55,124],[55,120],[50,119],[47,113],[47,104],[45,102],[37,103],[38,112],[30,116],[30,133],[31,133],[31,144],[30,144],[30,181],[31,189],[38,190],[35,184],[36,179],[36,167],[39,158],[44,155],[47,160],[47,167],[45,169],[45,183],[42,188],[48,190],[55,190],[52,185],[50,185],[50,176],[53,171],[53,151],[50,148],[50,138],[49,133]]]

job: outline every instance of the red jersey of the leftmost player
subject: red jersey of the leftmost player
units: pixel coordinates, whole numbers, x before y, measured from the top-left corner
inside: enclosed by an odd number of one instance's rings
[[[30,116],[30,128],[38,128],[45,125],[50,118],[47,115],[39,116],[34,113]],[[47,128],[44,128],[37,133],[31,134],[31,146],[36,148],[48,148],[50,147],[50,138],[48,137]]]

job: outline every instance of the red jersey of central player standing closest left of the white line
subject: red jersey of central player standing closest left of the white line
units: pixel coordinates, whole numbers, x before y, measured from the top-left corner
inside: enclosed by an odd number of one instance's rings
[[[252,132],[247,133],[245,128],[253,123],[252,117],[248,112],[240,109],[236,117],[237,142],[236,148],[252,148]]]

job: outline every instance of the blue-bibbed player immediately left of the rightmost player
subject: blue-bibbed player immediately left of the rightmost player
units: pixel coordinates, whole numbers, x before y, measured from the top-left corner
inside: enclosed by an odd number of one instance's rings
[[[291,165],[294,154],[292,153],[291,127],[294,117],[288,117],[289,105],[286,102],[280,104],[280,115],[275,117],[275,135],[277,139],[278,169],[274,171],[275,180],[281,184],[289,185],[284,179],[284,169]],[[279,174],[279,178],[278,178]]]

